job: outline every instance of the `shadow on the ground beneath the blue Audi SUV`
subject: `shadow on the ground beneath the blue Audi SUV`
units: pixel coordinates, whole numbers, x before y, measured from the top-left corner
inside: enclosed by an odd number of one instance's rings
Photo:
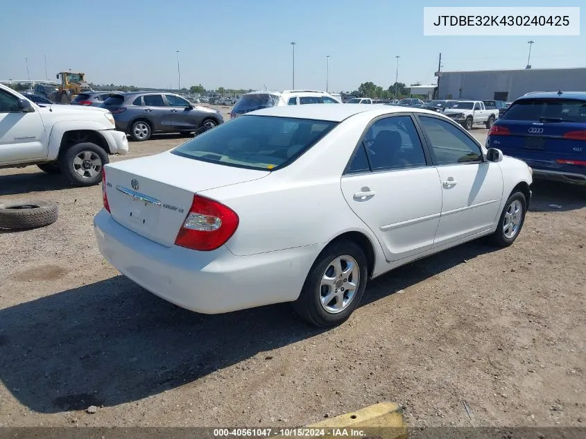
[[[533,180],[530,212],[565,212],[586,207],[586,185]]]

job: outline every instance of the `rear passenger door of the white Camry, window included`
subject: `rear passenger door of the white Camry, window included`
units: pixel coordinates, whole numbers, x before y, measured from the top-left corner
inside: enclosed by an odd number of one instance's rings
[[[438,171],[410,114],[375,119],[341,181],[352,211],[377,236],[388,261],[433,246],[442,208]]]

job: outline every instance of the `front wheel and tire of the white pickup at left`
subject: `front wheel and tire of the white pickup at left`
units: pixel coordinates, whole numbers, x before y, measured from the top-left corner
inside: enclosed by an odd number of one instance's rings
[[[93,186],[101,182],[103,166],[109,162],[105,150],[89,142],[71,146],[59,160],[61,172],[75,186]]]

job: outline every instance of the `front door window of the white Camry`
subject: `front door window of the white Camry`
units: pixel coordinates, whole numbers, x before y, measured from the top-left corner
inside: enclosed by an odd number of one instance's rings
[[[419,119],[438,164],[482,161],[481,148],[458,127],[435,117],[422,116]]]

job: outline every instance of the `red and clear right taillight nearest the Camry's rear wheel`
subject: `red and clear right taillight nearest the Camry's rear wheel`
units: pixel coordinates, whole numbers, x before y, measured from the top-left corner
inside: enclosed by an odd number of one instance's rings
[[[238,215],[230,207],[199,195],[193,196],[175,245],[192,250],[216,250],[236,232],[238,223]]]

